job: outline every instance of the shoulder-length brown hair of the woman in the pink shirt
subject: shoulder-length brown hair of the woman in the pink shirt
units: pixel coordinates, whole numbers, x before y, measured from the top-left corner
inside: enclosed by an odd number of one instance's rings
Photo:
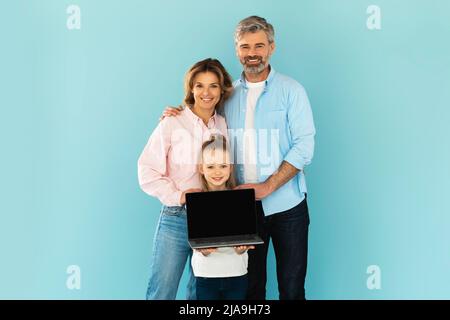
[[[219,79],[219,85],[222,93],[220,95],[220,100],[216,105],[216,111],[220,112],[224,102],[233,93],[233,82],[227,70],[225,70],[224,66],[217,59],[208,58],[199,61],[189,69],[184,78],[184,103],[189,107],[194,105],[195,100],[194,94],[192,93],[194,88],[194,79],[195,76],[201,72],[212,72]]]

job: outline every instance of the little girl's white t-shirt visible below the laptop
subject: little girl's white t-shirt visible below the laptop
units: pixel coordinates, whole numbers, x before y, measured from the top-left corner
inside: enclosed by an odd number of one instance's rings
[[[194,250],[192,270],[196,277],[227,278],[247,274],[248,254],[238,254],[232,247],[218,248],[217,251],[204,256]]]

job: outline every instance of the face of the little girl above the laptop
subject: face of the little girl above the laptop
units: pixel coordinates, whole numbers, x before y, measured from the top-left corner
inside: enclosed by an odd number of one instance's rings
[[[230,178],[231,165],[228,152],[221,149],[203,151],[200,173],[211,189],[223,188]]]

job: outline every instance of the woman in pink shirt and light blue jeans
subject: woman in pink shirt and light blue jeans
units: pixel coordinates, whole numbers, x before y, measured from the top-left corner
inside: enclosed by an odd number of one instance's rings
[[[153,243],[147,299],[175,299],[186,261],[190,280],[187,299],[195,299],[195,278],[187,242],[186,193],[201,191],[198,154],[212,134],[227,135],[218,114],[232,93],[231,77],[215,59],[197,62],[185,77],[185,108],[163,119],[138,160],[139,184],[163,204]]]

